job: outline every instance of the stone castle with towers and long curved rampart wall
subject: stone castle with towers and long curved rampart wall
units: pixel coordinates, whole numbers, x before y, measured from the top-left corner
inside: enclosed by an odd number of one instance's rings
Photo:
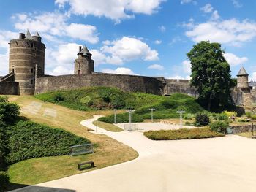
[[[74,74],[50,76],[45,74],[45,44],[39,34],[32,36],[29,30],[26,35],[20,33],[19,39],[10,40],[9,74],[0,77],[0,94],[34,95],[55,90],[108,86],[123,91],[165,96],[173,93],[197,96],[189,80],[94,72],[91,56],[86,46],[79,47]],[[244,68],[238,73],[238,85],[232,95],[236,104],[252,104],[256,101],[256,91],[249,86]]]

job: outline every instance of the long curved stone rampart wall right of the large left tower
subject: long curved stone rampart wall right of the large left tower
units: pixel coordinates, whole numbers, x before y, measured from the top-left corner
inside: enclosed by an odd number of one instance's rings
[[[153,93],[157,95],[162,95],[163,93],[163,84],[156,78],[104,73],[37,78],[35,93],[92,86],[115,87],[123,91]]]

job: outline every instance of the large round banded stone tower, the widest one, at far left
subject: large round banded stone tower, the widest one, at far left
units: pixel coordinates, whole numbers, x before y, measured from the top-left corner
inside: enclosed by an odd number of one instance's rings
[[[45,44],[38,33],[29,30],[20,33],[19,39],[10,40],[9,72],[19,82],[20,95],[33,95],[37,77],[45,75]]]

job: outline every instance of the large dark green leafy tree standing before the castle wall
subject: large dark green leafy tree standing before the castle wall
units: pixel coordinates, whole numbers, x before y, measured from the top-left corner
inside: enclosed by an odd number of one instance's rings
[[[208,110],[213,104],[227,104],[234,86],[224,53],[219,43],[208,41],[197,43],[187,53],[192,65],[191,85],[197,88],[199,99],[208,104]]]

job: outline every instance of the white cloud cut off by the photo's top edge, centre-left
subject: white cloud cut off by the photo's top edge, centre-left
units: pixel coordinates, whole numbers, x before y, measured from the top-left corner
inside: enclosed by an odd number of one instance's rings
[[[56,0],[55,3],[60,8],[69,4],[69,12],[75,15],[104,16],[120,21],[124,18],[133,18],[132,13],[151,15],[157,12],[163,1],[165,0]],[[127,12],[131,12],[131,14]]]

